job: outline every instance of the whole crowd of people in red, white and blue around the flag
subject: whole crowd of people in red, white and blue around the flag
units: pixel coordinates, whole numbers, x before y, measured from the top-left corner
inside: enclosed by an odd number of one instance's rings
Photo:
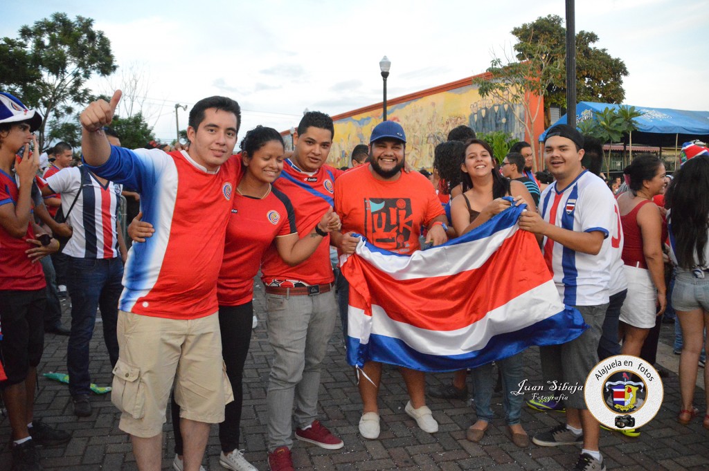
[[[116,91],[110,102],[90,103],[80,115],[82,165],[71,166],[72,148],[62,142],[39,178],[32,133],[43,117],[0,93],[0,388],[13,470],[42,470],[35,444],[70,439],[33,416],[45,331],[69,335],[73,412],[92,414],[89,341],[99,308],[113,367],[111,400],[138,468],[161,469],[170,404],[175,470],[203,470],[211,424],[219,424],[220,465],[255,470],[240,448],[240,421],[259,273],[274,352],[264,417],[269,469],[294,469],[293,437],[342,448],[318,419],[320,370],[337,317],[346,346],[359,325],[348,318],[348,282],[333,272],[330,247],[345,261],[361,234],[378,249],[411,256],[484,226],[512,205],[525,205],[520,229],[535,235],[560,300],[588,325],[573,341],[540,347],[545,380],[584,384],[599,359],[620,353],[654,363],[653,332],[671,306],[683,340],[678,420],[688,424],[699,414],[692,399],[709,327],[706,149],[683,162],[671,182],[660,159],[637,156],[625,169],[625,191],[614,195],[598,177],[600,144],[573,127],[547,132],[546,170],[535,174],[530,144],[495,156],[462,125],[435,148],[431,184],[406,165],[406,123],[374,127],[342,170],[326,163],[335,130],[324,113],[303,115],[292,154],[277,130],[262,126],[246,132],[234,153],[240,106],[213,96],[190,110],[186,148],[131,150],[110,128],[120,98]],[[117,220],[123,191],[140,206],[128,228],[128,251]],[[664,201],[657,198],[663,193]],[[58,299],[65,291],[70,329],[60,324]],[[467,439],[484,438],[497,389],[510,441],[527,448],[523,401],[513,394],[524,380],[522,355],[496,365],[498,385],[492,364],[471,371],[476,419]],[[369,440],[380,433],[381,371],[375,361],[358,371],[359,433]],[[427,395],[469,395],[467,370],[428,391],[422,371],[401,368],[401,375],[409,396],[403,409],[427,433],[438,431]],[[568,396],[528,403],[566,417],[531,442],[578,444],[576,469],[604,470],[599,423],[584,392]],[[703,424],[709,429],[709,414]]]

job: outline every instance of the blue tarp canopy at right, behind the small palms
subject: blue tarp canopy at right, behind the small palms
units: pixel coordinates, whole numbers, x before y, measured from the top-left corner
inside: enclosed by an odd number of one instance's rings
[[[605,108],[618,109],[620,106],[629,105],[581,101],[576,105],[576,123],[593,119],[593,113],[600,113]],[[643,114],[633,120],[637,125],[637,131],[632,132],[633,144],[674,147],[675,142],[679,142],[681,146],[686,141],[709,138],[709,111],[673,110],[648,106],[635,106],[635,110]],[[554,123],[557,124],[566,124],[566,115]],[[546,135],[545,130],[539,140],[543,141]]]

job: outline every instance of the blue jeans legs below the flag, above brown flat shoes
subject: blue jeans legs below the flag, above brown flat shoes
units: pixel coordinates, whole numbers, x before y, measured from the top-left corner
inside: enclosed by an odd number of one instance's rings
[[[522,353],[510,356],[504,360],[496,361],[497,367],[500,369],[502,376],[502,392],[503,406],[507,416],[507,424],[515,425],[520,423],[520,414],[522,411],[522,403],[524,396],[515,396],[512,392],[519,389],[519,384],[524,378],[524,366],[522,362]],[[496,377],[492,374],[492,363],[479,366],[471,371],[475,391],[473,398],[475,399],[475,413],[478,420],[491,422],[495,414],[490,407],[492,400],[493,388],[495,387]]]

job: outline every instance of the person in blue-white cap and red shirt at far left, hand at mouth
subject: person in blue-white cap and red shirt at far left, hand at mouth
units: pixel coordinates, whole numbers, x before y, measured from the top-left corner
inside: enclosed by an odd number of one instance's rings
[[[42,265],[34,262],[59,249],[56,240],[41,244],[32,223],[30,193],[39,159],[30,154],[29,142],[41,123],[37,111],[0,93],[0,391],[10,418],[13,470],[42,469],[35,443],[57,445],[71,438],[32,419],[46,299]],[[36,152],[36,140],[34,147]],[[23,157],[16,160],[21,149]]]

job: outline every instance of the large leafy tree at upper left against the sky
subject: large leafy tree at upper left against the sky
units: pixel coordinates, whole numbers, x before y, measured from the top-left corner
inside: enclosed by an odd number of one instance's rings
[[[53,13],[31,27],[24,25],[18,35],[1,40],[0,64],[13,60],[30,79],[17,80],[0,68],[0,89],[18,95],[45,116],[39,129],[43,147],[48,121],[61,122],[74,114],[74,106],[88,103],[91,91],[84,86],[86,80],[94,74],[108,76],[116,64],[111,42],[102,31],[94,30],[91,18],[72,20],[66,13]]]

